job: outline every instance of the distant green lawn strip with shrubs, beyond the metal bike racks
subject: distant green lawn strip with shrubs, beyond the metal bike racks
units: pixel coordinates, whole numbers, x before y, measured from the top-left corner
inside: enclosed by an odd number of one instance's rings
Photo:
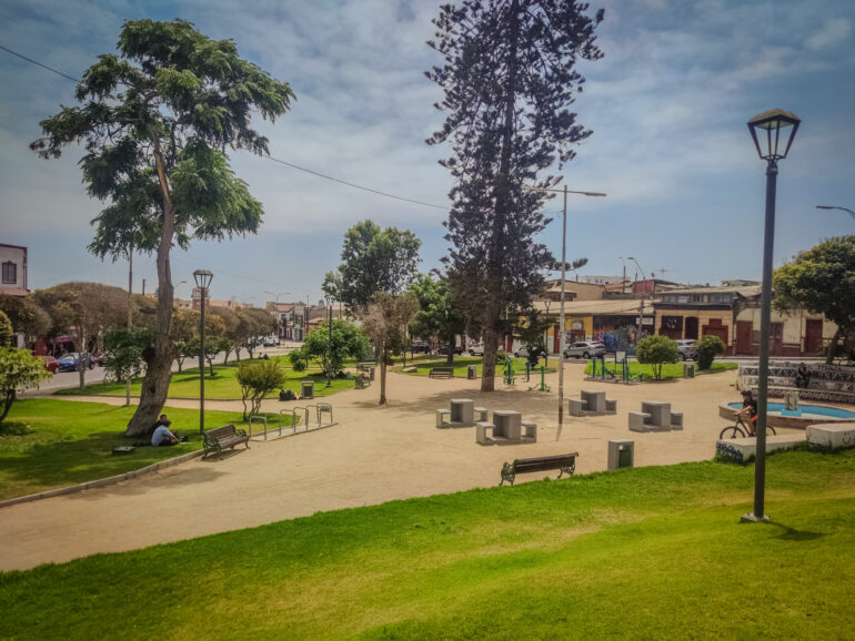
[[[272,360],[276,360],[285,368],[286,383],[284,389],[291,389],[298,396],[301,391],[301,385],[303,380],[314,381],[314,393],[316,396],[329,396],[343,389],[350,389],[355,386],[354,380],[348,380],[344,378],[336,378],[332,381],[332,387],[326,388],[326,378],[321,374],[319,368],[310,368],[304,373],[295,373],[291,369],[290,363],[284,356],[274,356]],[[258,363],[259,359],[248,360],[244,358],[241,363]],[[227,365],[215,365],[214,373],[217,376],[211,378],[211,372],[205,368],[204,376],[204,397],[212,399],[240,399],[241,388],[238,385],[238,363],[230,360]],[[142,387],[142,379],[138,378],[131,384],[131,394],[134,396],[140,395],[140,388]],[[94,395],[94,396],[124,396],[125,385],[124,383],[99,383],[95,385],[87,385],[86,389],[74,387],[72,389],[61,389],[57,391],[60,396],[73,396],[73,395]],[[191,367],[185,368],[183,372],[175,372],[172,374],[172,381],[169,386],[170,398],[199,398],[199,368]]]

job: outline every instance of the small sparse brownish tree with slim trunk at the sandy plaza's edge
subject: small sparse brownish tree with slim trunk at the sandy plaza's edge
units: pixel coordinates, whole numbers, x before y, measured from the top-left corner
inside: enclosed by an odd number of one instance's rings
[[[392,365],[392,355],[405,349],[406,327],[418,312],[419,299],[412,294],[392,296],[381,292],[362,319],[380,364],[380,405],[386,404],[386,366]]]

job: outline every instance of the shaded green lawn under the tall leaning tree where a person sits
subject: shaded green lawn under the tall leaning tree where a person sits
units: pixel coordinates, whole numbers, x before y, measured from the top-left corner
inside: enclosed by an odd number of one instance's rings
[[[6,436],[0,436],[0,500],[123,474],[202,448],[199,411],[164,407],[172,429],[188,442],[113,456],[114,447],[139,440],[122,436],[135,409],[53,398],[16,401],[3,421]],[[232,423],[247,428],[241,414],[204,416],[205,427]],[[286,420],[290,425],[291,417]],[[278,415],[272,425],[279,425]]]

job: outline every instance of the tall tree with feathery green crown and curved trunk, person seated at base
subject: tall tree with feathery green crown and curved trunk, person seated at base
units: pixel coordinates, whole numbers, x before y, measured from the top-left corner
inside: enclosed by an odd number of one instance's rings
[[[83,142],[83,181],[109,202],[95,217],[90,250],[121,255],[153,251],[158,266],[154,350],[127,435],[147,430],[169,389],[173,357],[173,244],[253,233],[261,203],[232,172],[225,147],[268,152],[250,126],[253,111],[274,120],[294,98],[290,87],[238,55],[232,40],[211,40],[190,22],[127,21],[119,55],[103,54],[83,74],[76,98],[42,121],[31,147],[58,157]]]

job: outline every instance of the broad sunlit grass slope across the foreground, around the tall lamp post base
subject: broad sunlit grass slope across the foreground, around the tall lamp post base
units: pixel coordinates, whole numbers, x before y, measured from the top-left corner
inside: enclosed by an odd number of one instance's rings
[[[0,637],[851,638],[855,451],[767,464],[765,525],[738,522],[753,466],[697,462],[4,573]]]

